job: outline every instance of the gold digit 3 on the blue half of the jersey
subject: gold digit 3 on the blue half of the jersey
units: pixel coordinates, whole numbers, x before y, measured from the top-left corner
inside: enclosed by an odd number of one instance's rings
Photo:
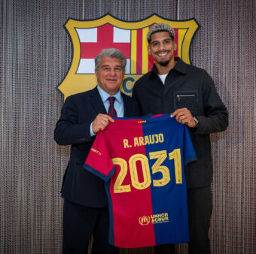
[[[165,186],[171,180],[171,177],[169,176],[169,168],[161,165],[166,157],[166,150],[149,153],[150,159],[157,159],[157,161],[154,162],[154,165],[152,166],[152,174],[160,172],[163,175],[162,179],[153,180],[153,186]]]

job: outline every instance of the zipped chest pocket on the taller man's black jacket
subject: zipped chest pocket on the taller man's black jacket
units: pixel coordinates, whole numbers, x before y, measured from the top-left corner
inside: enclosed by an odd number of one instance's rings
[[[198,91],[182,91],[175,92],[175,110],[182,107],[187,107],[192,115],[198,113]]]

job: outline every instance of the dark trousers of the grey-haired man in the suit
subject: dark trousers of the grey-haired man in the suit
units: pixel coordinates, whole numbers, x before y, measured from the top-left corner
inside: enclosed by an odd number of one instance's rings
[[[118,249],[108,244],[108,207],[84,207],[64,200],[62,219],[62,253],[87,253],[93,235],[92,253],[117,253]]]

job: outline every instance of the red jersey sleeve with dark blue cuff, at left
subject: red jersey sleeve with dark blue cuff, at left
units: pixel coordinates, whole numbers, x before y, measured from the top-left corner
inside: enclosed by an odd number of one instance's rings
[[[107,181],[114,174],[114,165],[108,153],[103,132],[99,132],[84,163],[87,171]]]

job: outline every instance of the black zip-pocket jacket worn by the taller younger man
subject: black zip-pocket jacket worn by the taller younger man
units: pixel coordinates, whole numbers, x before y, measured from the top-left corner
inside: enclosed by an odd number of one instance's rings
[[[187,166],[187,188],[208,186],[212,182],[212,156],[209,134],[227,129],[228,114],[212,78],[203,69],[187,65],[181,59],[169,71],[163,85],[154,65],[136,81],[133,98],[139,102],[142,115],[172,113],[187,107],[199,119],[197,128],[189,128],[197,153],[197,162]]]

